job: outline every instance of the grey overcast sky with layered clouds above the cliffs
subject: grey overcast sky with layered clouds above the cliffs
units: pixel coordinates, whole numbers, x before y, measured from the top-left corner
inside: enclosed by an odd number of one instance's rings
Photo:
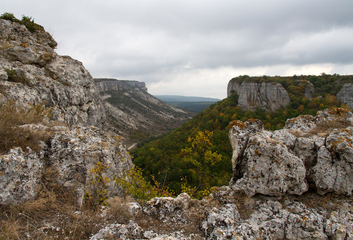
[[[353,74],[352,0],[2,1],[94,78],[223,99],[238,75]]]

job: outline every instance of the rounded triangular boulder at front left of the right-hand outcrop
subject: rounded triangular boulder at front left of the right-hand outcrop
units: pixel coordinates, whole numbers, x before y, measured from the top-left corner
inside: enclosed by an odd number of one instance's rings
[[[283,143],[266,134],[269,132],[263,131],[249,137],[240,161],[243,176],[235,182],[233,189],[242,189],[250,195],[301,195],[308,187],[303,161],[288,152]]]

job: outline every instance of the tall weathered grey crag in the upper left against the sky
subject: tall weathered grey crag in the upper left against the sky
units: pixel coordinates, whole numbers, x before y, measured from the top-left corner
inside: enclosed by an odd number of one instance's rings
[[[103,127],[105,112],[91,74],[82,62],[55,53],[45,31],[0,19],[0,84],[3,102],[50,107],[52,120]]]

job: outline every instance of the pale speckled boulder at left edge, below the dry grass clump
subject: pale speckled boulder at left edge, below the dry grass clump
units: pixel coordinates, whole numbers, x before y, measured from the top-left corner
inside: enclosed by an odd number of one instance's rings
[[[43,152],[12,148],[0,156],[0,204],[20,204],[35,197],[44,171]]]

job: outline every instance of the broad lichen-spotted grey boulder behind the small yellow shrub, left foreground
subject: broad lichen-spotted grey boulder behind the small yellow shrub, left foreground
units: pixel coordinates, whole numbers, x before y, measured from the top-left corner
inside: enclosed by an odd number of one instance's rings
[[[121,137],[102,134],[96,127],[73,126],[70,131],[55,132],[48,158],[60,172],[59,183],[75,190],[79,200],[84,190],[92,194],[96,191],[99,184],[91,184],[96,176],[109,181],[101,187],[106,197],[120,195],[121,189],[113,179],[132,167]]]

